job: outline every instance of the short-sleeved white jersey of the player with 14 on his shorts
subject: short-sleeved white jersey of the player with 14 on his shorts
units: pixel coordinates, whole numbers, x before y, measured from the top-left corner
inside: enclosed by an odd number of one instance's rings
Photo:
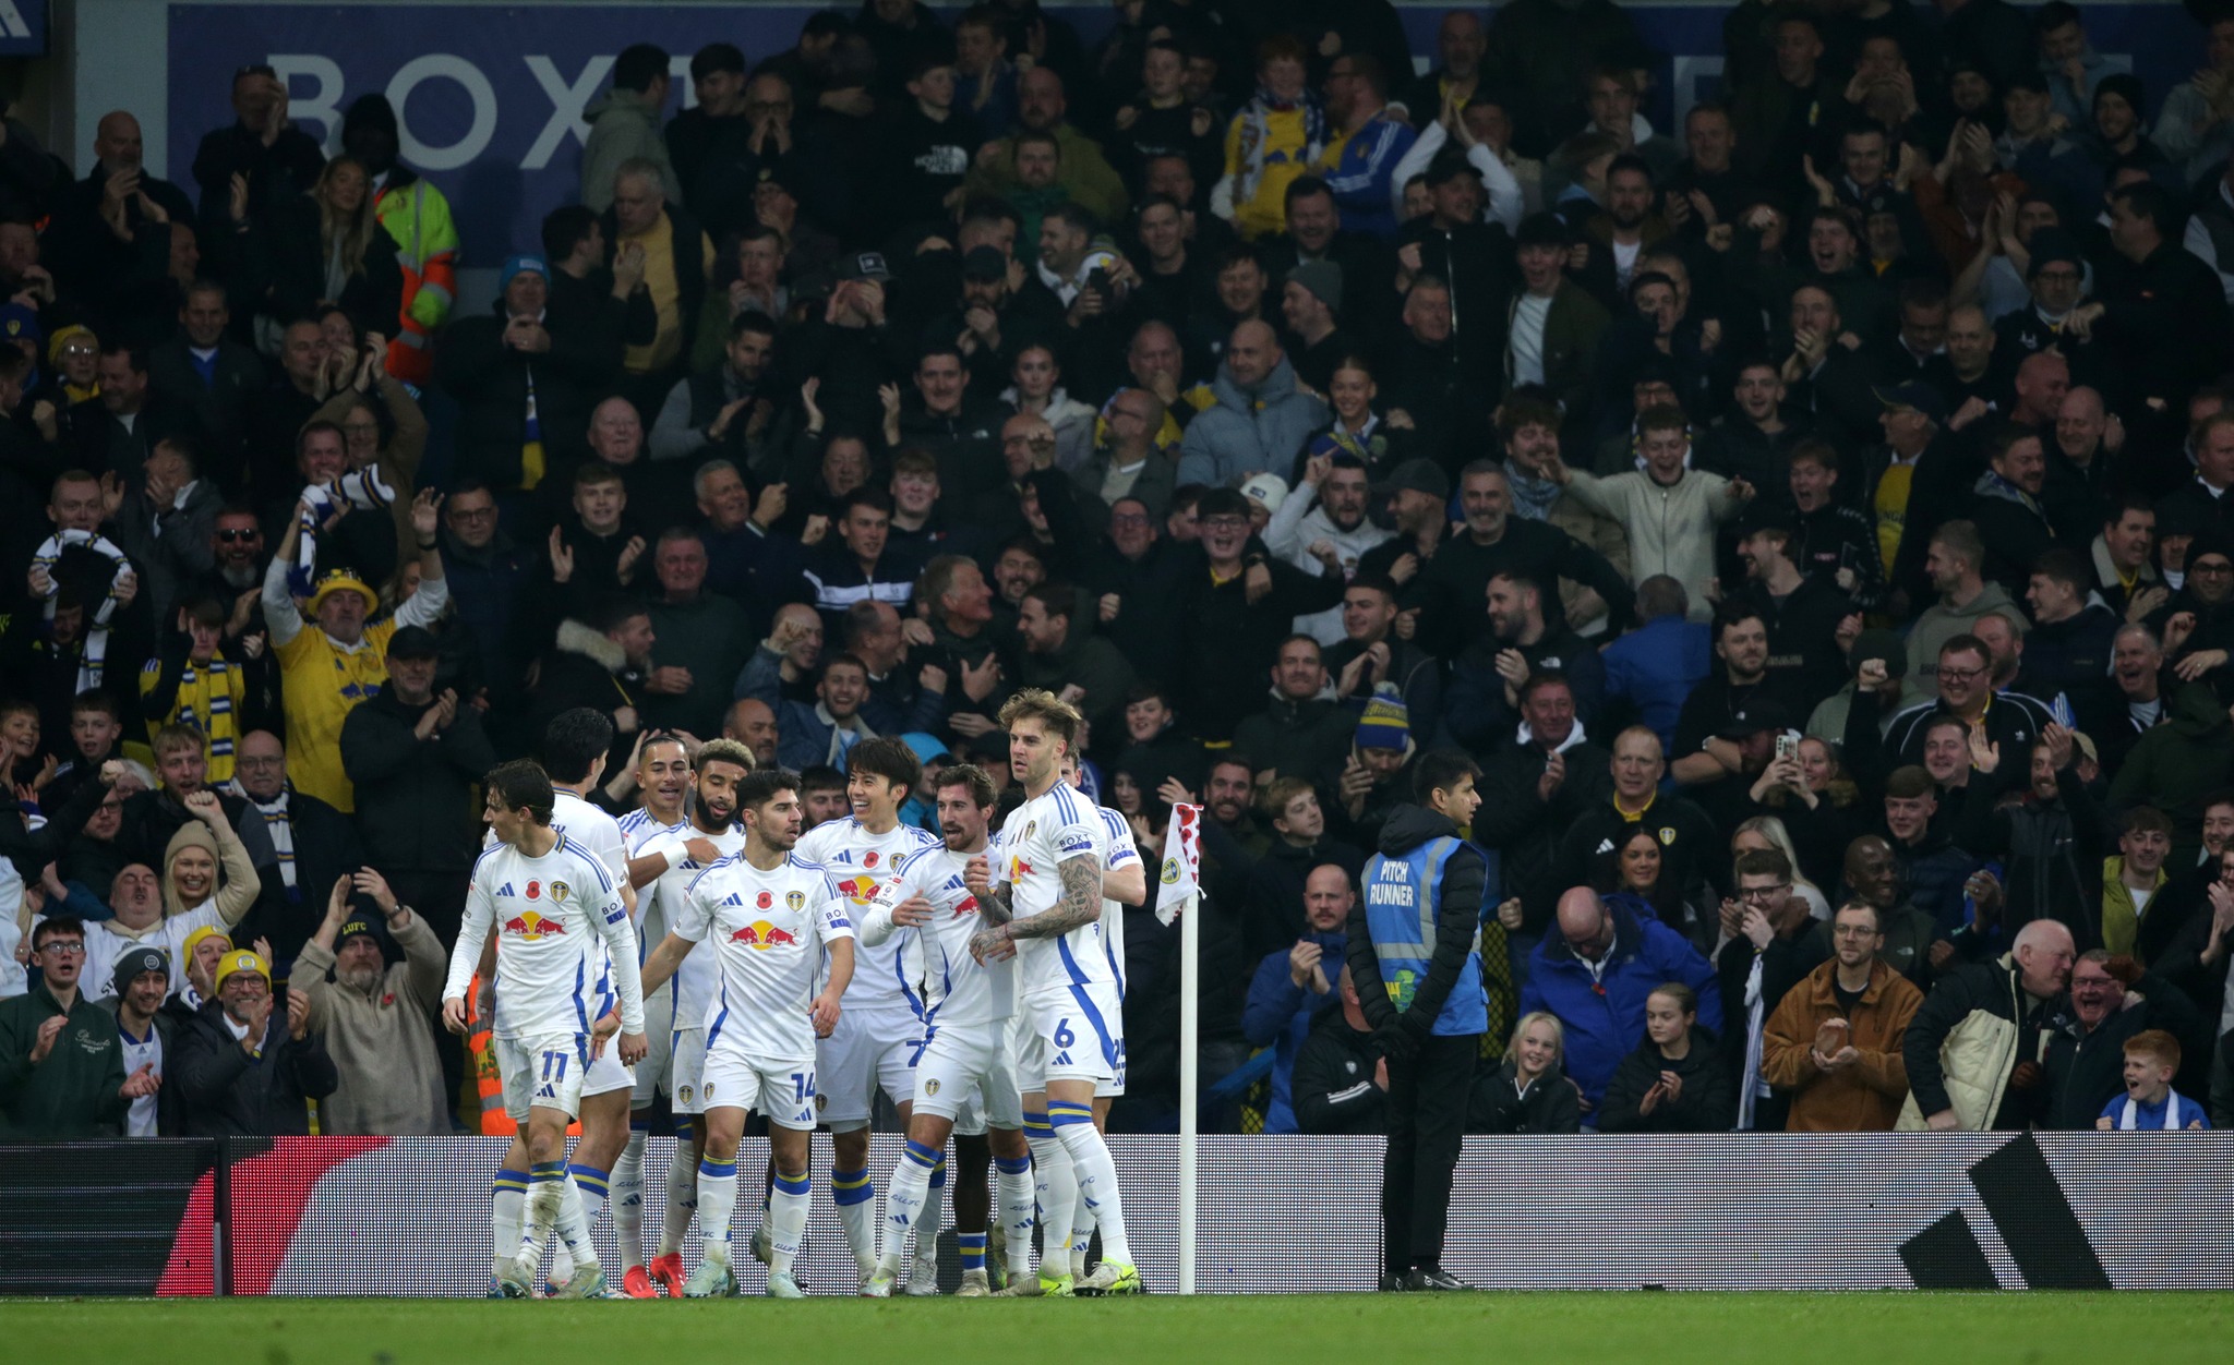
[[[675,934],[708,945],[719,985],[706,1005],[706,1050],[739,1050],[753,1066],[813,1070],[813,1003],[822,947],[853,936],[853,920],[827,871],[798,853],[773,871],[728,856],[697,874]],[[690,956],[701,949],[693,947]],[[856,967],[858,972],[858,967]],[[679,1016],[679,1014],[677,1014]]]

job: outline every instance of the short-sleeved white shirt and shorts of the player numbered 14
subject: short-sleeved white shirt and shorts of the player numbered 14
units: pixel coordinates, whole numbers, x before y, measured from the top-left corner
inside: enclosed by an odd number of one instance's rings
[[[809,1016],[822,949],[853,938],[829,874],[798,853],[760,871],[742,853],[693,878],[670,929],[710,954],[719,985],[708,1001],[697,1113],[757,1108],[780,1128],[815,1126],[815,1028]],[[842,1005],[840,1005],[842,1010]]]

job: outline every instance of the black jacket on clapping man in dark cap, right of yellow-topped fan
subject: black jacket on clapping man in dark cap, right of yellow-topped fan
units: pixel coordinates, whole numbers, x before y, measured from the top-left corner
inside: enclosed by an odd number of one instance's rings
[[[357,831],[375,867],[465,871],[478,849],[469,791],[496,751],[476,706],[460,704],[447,728],[420,739],[424,713],[382,688],[342,722],[342,771],[357,789]]]

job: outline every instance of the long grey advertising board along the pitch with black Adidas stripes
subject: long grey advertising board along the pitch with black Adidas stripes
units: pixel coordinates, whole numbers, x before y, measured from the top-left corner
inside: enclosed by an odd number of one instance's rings
[[[1177,1139],[1110,1148],[1135,1260],[1175,1291]],[[898,1151],[876,1137],[878,1186]],[[648,1231],[672,1153],[646,1153]],[[500,1155],[491,1137],[0,1146],[0,1294],[480,1296]],[[746,1189],[764,1159],[748,1139]],[[1378,1139],[1204,1137],[1200,1173],[1202,1291],[1374,1285]],[[851,1291],[822,1142],[813,1180],[800,1278]],[[1445,1264],[1486,1289],[2234,1289],[2230,1229],[2230,1133],[1512,1137],[1468,1139]],[[596,1240],[617,1264],[610,1220]],[[941,1262],[952,1289],[952,1231]],[[742,1278],[762,1289],[757,1264]]]

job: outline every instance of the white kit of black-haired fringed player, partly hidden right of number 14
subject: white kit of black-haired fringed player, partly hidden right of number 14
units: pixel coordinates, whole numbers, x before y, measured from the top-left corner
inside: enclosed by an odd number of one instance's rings
[[[800,836],[798,856],[822,865],[847,900],[847,916],[860,918],[900,858],[938,847],[938,836],[914,824],[869,833],[860,820],[844,815]],[[916,970],[900,963],[903,949],[914,952],[914,938],[894,934],[878,947],[853,945],[853,981],[844,990],[838,1028],[815,1048],[820,1115],[833,1133],[867,1126],[878,1086],[894,1104],[914,1099],[911,1061],[923,1043],[923,999],[907,985]]]

